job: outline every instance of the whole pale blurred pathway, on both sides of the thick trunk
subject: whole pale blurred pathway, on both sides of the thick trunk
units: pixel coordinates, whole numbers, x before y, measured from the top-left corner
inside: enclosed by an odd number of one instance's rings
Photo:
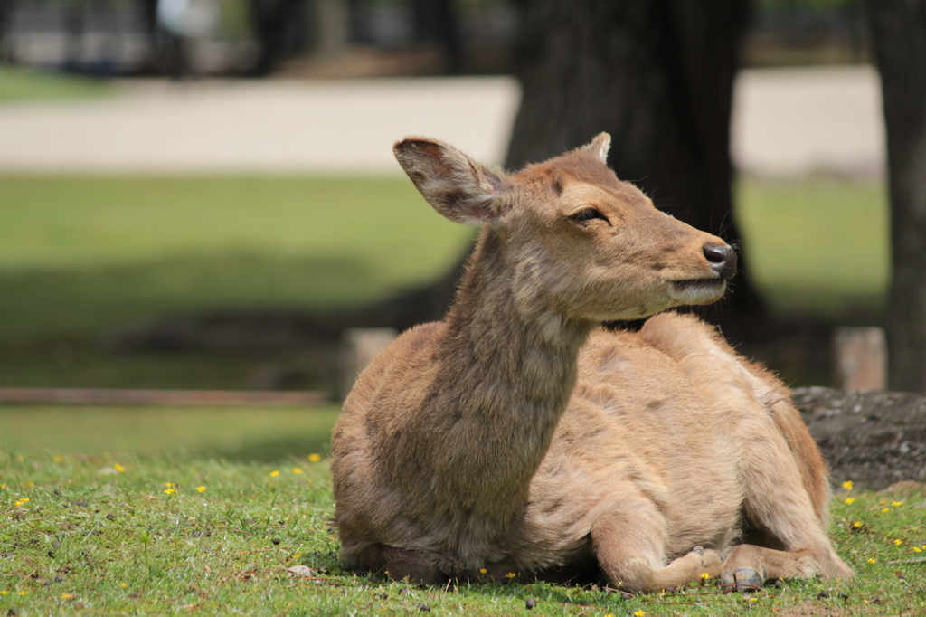
[[[0,171],[398,173],[390,146],[409,133],[498,163],[519,101],[507,77],[124,82],[121,90],[0,106]],[[745,71],[733,149],[739,166],[758,174],[878,172],[875,73]]]

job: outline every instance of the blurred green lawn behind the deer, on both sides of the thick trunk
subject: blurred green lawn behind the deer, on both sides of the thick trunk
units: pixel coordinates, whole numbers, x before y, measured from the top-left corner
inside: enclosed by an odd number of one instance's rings
[[[739,195],[773,308],[878,314],[881,184],[747,180]],[[113,354],[97,340],[169,314],[357,306],[439,276],[473,234],[400,178],[0,175],[0,220],[0,385],[243,388],[267,367],[312,373],[292,353]]]

